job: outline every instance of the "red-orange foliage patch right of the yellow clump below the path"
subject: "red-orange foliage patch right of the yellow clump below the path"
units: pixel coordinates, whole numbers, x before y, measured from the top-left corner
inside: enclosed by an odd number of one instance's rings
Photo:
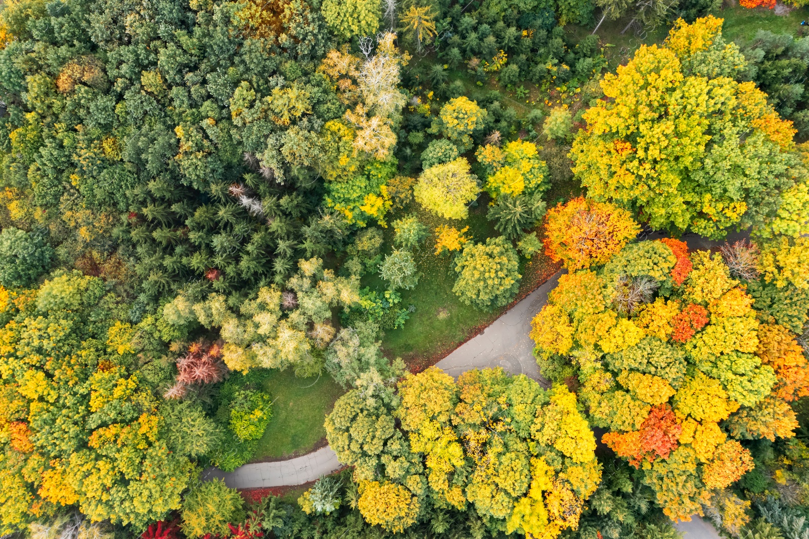
[[[649,462],[654,462],[658,457],[668,458],[677,448],[677,439],[682,430],[671,407],[664,404],[651,409],[640,431],[608,432],[601,441],[618,456],[629,458],[629,464],[640,468],[644,458]]]

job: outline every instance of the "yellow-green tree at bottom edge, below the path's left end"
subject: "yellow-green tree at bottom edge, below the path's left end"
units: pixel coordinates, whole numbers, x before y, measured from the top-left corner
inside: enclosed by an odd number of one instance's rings
[[[227,524],[244,520],[242,497],[238,490],[227,488],[222,479],[200,483],[185,494],[180,515],[187,537],[207,533],[225,536],[230,531]]]

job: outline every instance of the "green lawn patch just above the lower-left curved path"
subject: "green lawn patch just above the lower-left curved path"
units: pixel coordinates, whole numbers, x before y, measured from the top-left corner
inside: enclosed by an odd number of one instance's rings
[[[291,369],[270,371],[264,382],[273,398],[273,418],[259,440],[254,460],[303,455],[324,439],[323,419],[344,390],[324,372],[320,379],[296,378]]]

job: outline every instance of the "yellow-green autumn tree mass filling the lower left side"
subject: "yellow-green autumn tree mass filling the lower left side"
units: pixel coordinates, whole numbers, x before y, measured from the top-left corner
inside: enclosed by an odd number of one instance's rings
[[[161,433],[159,397],[110,342],[100,278],[61,272],[2,296],[0,533],[78,506],[91,520],[146,528],[180,508],[193,464]]]

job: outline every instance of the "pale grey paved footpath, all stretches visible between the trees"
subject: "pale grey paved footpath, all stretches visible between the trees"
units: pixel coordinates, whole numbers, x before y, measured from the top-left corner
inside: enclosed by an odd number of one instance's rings
[[[662,233],[650,239],[664,237]],[[744,233],[729,234],[728,240],[747,237]],[[691,249],[713,248],[724,242],[707,240],[696,234],[685,234],[682,240]],[[544,282],[522,301],[494,320],[483,333],[469,339],[446,358],[436,363],[451,376],[459,376],[473,368],[502,367],[511,374],[524,374],[544,387],[549,381],[541,375],[532,351],[534,344],[529,337],[531,320],[548,300],[549,291],[557,285],[561,271]],[[277,462],[258,462],[235,469],[231,473],[209,468],[202,473],[203,481],[214,477],[224,479],[227,486],[236,489],[251,489],[268,486],[295,486],[315,481],[318,477],[336,472],[341,468],[337,455],[326,446],[304,456]],[[705,520],[695,516],[691,522],[676,524],[684,539],[719,539],[719,534]]]

